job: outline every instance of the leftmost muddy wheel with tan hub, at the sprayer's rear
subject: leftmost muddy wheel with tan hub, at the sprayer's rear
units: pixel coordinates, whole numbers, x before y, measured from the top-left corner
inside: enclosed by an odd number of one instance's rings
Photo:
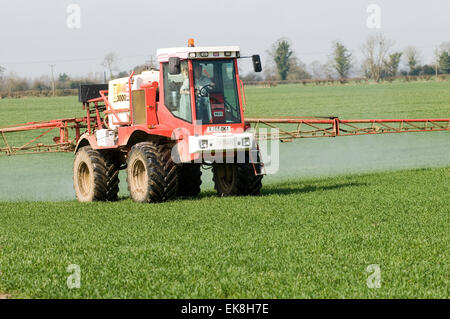
[[[114,153],[80,148],[73,165],[73,186],[80,202],[116,201],[119,164]]]

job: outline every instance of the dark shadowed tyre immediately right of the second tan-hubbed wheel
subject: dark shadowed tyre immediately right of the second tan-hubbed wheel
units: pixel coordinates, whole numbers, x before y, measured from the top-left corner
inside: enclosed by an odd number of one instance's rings
[[[200,193],[202,171],[200,164],[181,164],[178,170],[177,196],[196,196]]]

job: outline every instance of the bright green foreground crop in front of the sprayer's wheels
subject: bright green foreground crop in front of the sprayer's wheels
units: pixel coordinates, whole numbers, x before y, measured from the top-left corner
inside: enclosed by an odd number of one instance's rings
[[[257,198],[156,205],[1,203],[0,287],[38,298],[444,298],[449,178],[442,168],[292,180]],[[69,264],[81,289],[66,287]],[[370,264],[380,289],[366,286]]]

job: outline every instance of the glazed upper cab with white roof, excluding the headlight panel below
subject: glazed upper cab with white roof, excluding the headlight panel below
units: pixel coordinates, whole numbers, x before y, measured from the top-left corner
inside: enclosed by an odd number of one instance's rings
[[[158,50],[164,104],[187,122],[241,124],[239,47],[186,47]]]

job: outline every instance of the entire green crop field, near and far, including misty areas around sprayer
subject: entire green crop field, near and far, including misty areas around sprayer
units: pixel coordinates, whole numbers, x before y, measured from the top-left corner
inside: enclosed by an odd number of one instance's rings
[[[449,117],[449,88],[249,87],[247,114]],[[0,126],[79,109],[74,97],[0,100]],[[282,178],[267,176],[261,197],[217,198],[209,182],[198,198],[153,205],[130,201],[124,184],[117,203],[75,202],[70,154],[0,158],[0,295],[448,298],[448,137],[283,144]],[[33,191],[59,201],[30,201]],[[80,289],[67,288],[70,264]],[[380,265],[380,289],[366,285],[370,264]]]

